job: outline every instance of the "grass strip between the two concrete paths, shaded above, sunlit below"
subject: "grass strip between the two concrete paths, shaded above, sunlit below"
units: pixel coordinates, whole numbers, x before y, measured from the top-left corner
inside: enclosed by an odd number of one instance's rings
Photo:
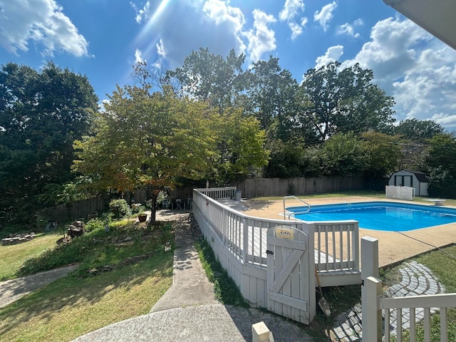
[[[71,341],[147,314],[172,285],[172,254],[80,279],[66,276],[0,309],[0,341]]]

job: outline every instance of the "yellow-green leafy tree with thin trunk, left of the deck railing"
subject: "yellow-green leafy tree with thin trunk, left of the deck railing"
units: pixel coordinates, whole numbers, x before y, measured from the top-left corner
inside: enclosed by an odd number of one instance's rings
[[[147,87],[118,87],[98,115],[95,134],[76,141],[74,170],[100,189],[146,189],[154,223],[160,191],[209,169],[216,152],[213,117],[207,105],[177,98],[169,87],[152,94]]]

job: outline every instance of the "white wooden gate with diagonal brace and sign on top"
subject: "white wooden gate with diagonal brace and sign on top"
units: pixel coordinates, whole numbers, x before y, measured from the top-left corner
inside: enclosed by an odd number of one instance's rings
[[[276,314],[309,324],[315,315],[314,247],[299,229],[268,229],[267,308]]]

